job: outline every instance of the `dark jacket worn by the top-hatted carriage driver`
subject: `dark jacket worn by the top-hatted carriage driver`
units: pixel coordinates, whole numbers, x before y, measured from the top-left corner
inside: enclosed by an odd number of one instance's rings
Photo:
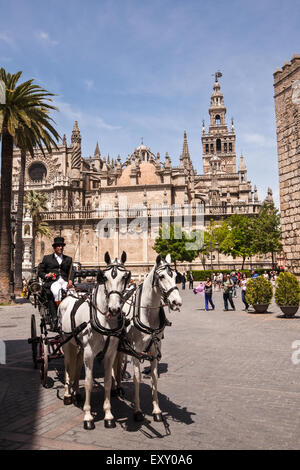
[[[38,267],[38,275],[43,281],[45,281],[48,286],[51,286],[51,284],[57,281],[60,276],[63,278],[64,281],[70,280],[73,282],[75,271],[74,269],[72,269],[72,272],[70,274],[71,268],[72,258],[70,256],[63,255],[63,261],[61,265],[59,265],[58,261],[54,256],[54,253],[52,253],[52,255],[44,256],[42,262],[39,264]],[[55,273],[56,278],[46,279],[45,276],[49,273]]]

